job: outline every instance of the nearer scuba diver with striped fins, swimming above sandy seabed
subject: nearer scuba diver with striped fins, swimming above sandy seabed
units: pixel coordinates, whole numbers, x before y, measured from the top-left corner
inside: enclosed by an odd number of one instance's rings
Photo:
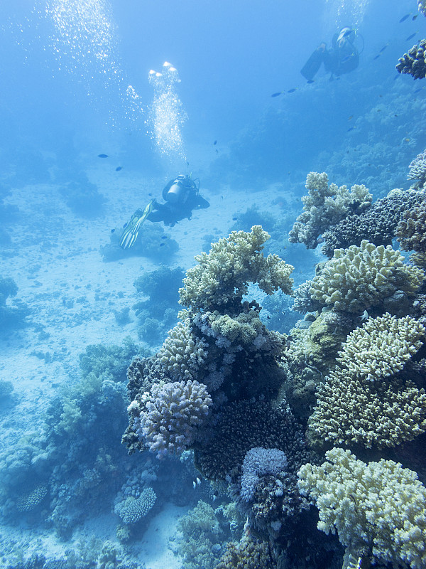
[[[165,203],[151,200],[142,211],[137,209],[129,223],[124,225],[124,231],[120,239],[120,247],[129,249],[133,247],[138,238],[142,223],[150,221],[163,221],[164,225],[173,227],[178,221],[192,217],[192,210],[205,209],[210,206],[209,202],[200,196],[200,181],[198,185],[191,176],[180,174],[166,184],[163,188]]]

